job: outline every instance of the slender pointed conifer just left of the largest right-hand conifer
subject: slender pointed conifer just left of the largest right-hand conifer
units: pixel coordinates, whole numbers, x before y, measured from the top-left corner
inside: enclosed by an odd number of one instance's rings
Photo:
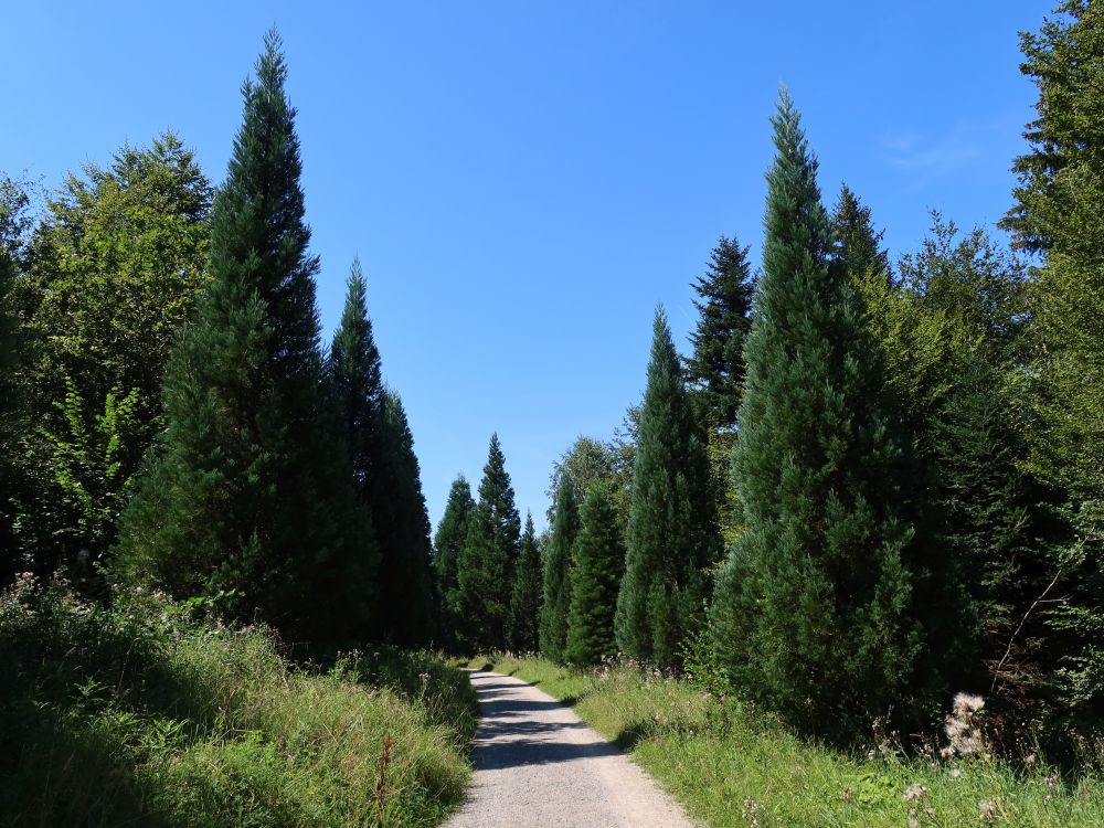
[[[701,624],[720,539],[704,439],[661,308],[635,455],[617,644],[635,658],[672,666]]]

